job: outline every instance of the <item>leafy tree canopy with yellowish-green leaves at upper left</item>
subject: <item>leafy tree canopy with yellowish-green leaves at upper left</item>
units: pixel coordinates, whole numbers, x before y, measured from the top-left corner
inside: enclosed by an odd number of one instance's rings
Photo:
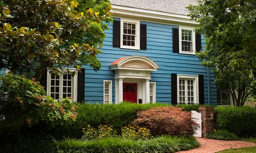
[[[38,78],[47,69],[101,67],[98,48],[112,21],[108,0],[2,0],[0,8],[0,69],[33,70]]]

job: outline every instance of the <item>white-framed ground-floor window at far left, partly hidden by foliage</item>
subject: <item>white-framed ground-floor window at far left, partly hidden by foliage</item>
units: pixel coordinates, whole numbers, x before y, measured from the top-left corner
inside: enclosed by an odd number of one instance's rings
[[[70,72],[63,71],[59,74],[47,73],[47,94],[55,100],[72,97],[74,101],[77,100],[77,72],[72,77],[72,70]]]

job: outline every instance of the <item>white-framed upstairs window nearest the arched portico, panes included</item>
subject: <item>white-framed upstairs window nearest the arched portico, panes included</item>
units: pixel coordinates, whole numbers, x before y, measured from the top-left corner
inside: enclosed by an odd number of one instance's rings
[[[140,21],[121,18],[120,47],[140,49]]]

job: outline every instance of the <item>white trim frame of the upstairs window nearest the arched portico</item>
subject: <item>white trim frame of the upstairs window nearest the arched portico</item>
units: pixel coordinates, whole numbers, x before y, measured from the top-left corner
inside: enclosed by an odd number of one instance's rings
[[[126,48],[126,49],[140,49],[140,21],[139,20],[132,20],[127,18],[120,18],[120,48]],[[136,24],[135,29],[135,46],[126,46],[123,45],[123,22],[129,22]]]

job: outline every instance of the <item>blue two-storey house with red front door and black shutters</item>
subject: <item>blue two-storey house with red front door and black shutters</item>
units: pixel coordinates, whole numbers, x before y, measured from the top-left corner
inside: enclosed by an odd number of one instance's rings
[[[217,105],[215,76],[195,52],[205,43],[185,8],[196,0],[111,0],[113,23],[99,55],[102,68],[83,65],[74,77],[47,73],[41,84],[55,99],[119,104]]]

